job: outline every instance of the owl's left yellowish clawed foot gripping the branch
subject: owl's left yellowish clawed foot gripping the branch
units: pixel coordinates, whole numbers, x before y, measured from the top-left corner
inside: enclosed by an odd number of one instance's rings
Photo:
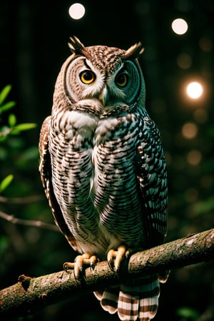
[[[75,278],[81,279],[83,276],[83,267],[90,266],[92,269],[95,267],[98,259],[96,255],[91,255],[91,253],[84,253],[83,255],[78,255],[73,263],[66,262],[63,264],[63,269],[66,270],[73,270]]]

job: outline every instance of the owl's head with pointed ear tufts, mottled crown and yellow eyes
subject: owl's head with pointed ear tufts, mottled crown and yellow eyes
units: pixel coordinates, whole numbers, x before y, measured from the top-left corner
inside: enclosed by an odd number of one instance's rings
[[[63,86],[71,104],[93,100],[103,109],[133,107],[145,101],[145,83],[138,57],[141,43],[122,50],[108,46],[85,47],[76,38],[68,44],[71,56],[63,65]]]

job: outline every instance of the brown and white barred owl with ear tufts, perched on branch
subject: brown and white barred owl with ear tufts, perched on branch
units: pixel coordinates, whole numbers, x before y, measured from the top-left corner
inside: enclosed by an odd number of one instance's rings
[[[160,133],[145,108],[138,58],[128,50],[85,47],[75,36],[58,73],[51,116],[39,141],[41,180],[56,225],[83,267],[108,260],[120,272],[129,255],[163,243],[167,172]],[[94,292],[120,320],[151,320],[158,309],[158,274]]]

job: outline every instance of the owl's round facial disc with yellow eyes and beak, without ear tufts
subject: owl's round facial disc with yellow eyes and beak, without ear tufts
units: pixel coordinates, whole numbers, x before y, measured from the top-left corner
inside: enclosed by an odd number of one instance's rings
[[[113,110],[121,104],[130,106],[136,102],[143,78],[136,61],[95,65],[78,56],[66,68],[65,84],[68,99],[73,103],[87,99]]]

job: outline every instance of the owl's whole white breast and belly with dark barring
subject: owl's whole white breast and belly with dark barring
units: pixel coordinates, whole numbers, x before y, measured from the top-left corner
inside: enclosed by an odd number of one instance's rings
[[[54,193],[82,252],[105,251],[121,242],[134,245],[143,238],[133,165],[136,121],[130,115],[101,120],[82,111],[58,113],[52,120]]]

